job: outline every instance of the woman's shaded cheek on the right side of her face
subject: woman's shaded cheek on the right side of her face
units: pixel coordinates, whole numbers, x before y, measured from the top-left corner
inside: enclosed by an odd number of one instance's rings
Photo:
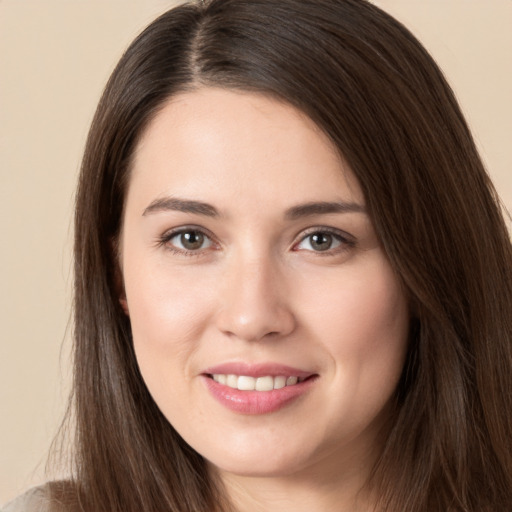
[[[331,357],[332,393],[339,397],[333,418],[342,423],[350,411],[354,431],[376,418],[393,395],[409,331],[407,301],[387,262],[376,258],[361,270],[332,283],[310,317]],[[324,406],[335,407],[329,400]]]

